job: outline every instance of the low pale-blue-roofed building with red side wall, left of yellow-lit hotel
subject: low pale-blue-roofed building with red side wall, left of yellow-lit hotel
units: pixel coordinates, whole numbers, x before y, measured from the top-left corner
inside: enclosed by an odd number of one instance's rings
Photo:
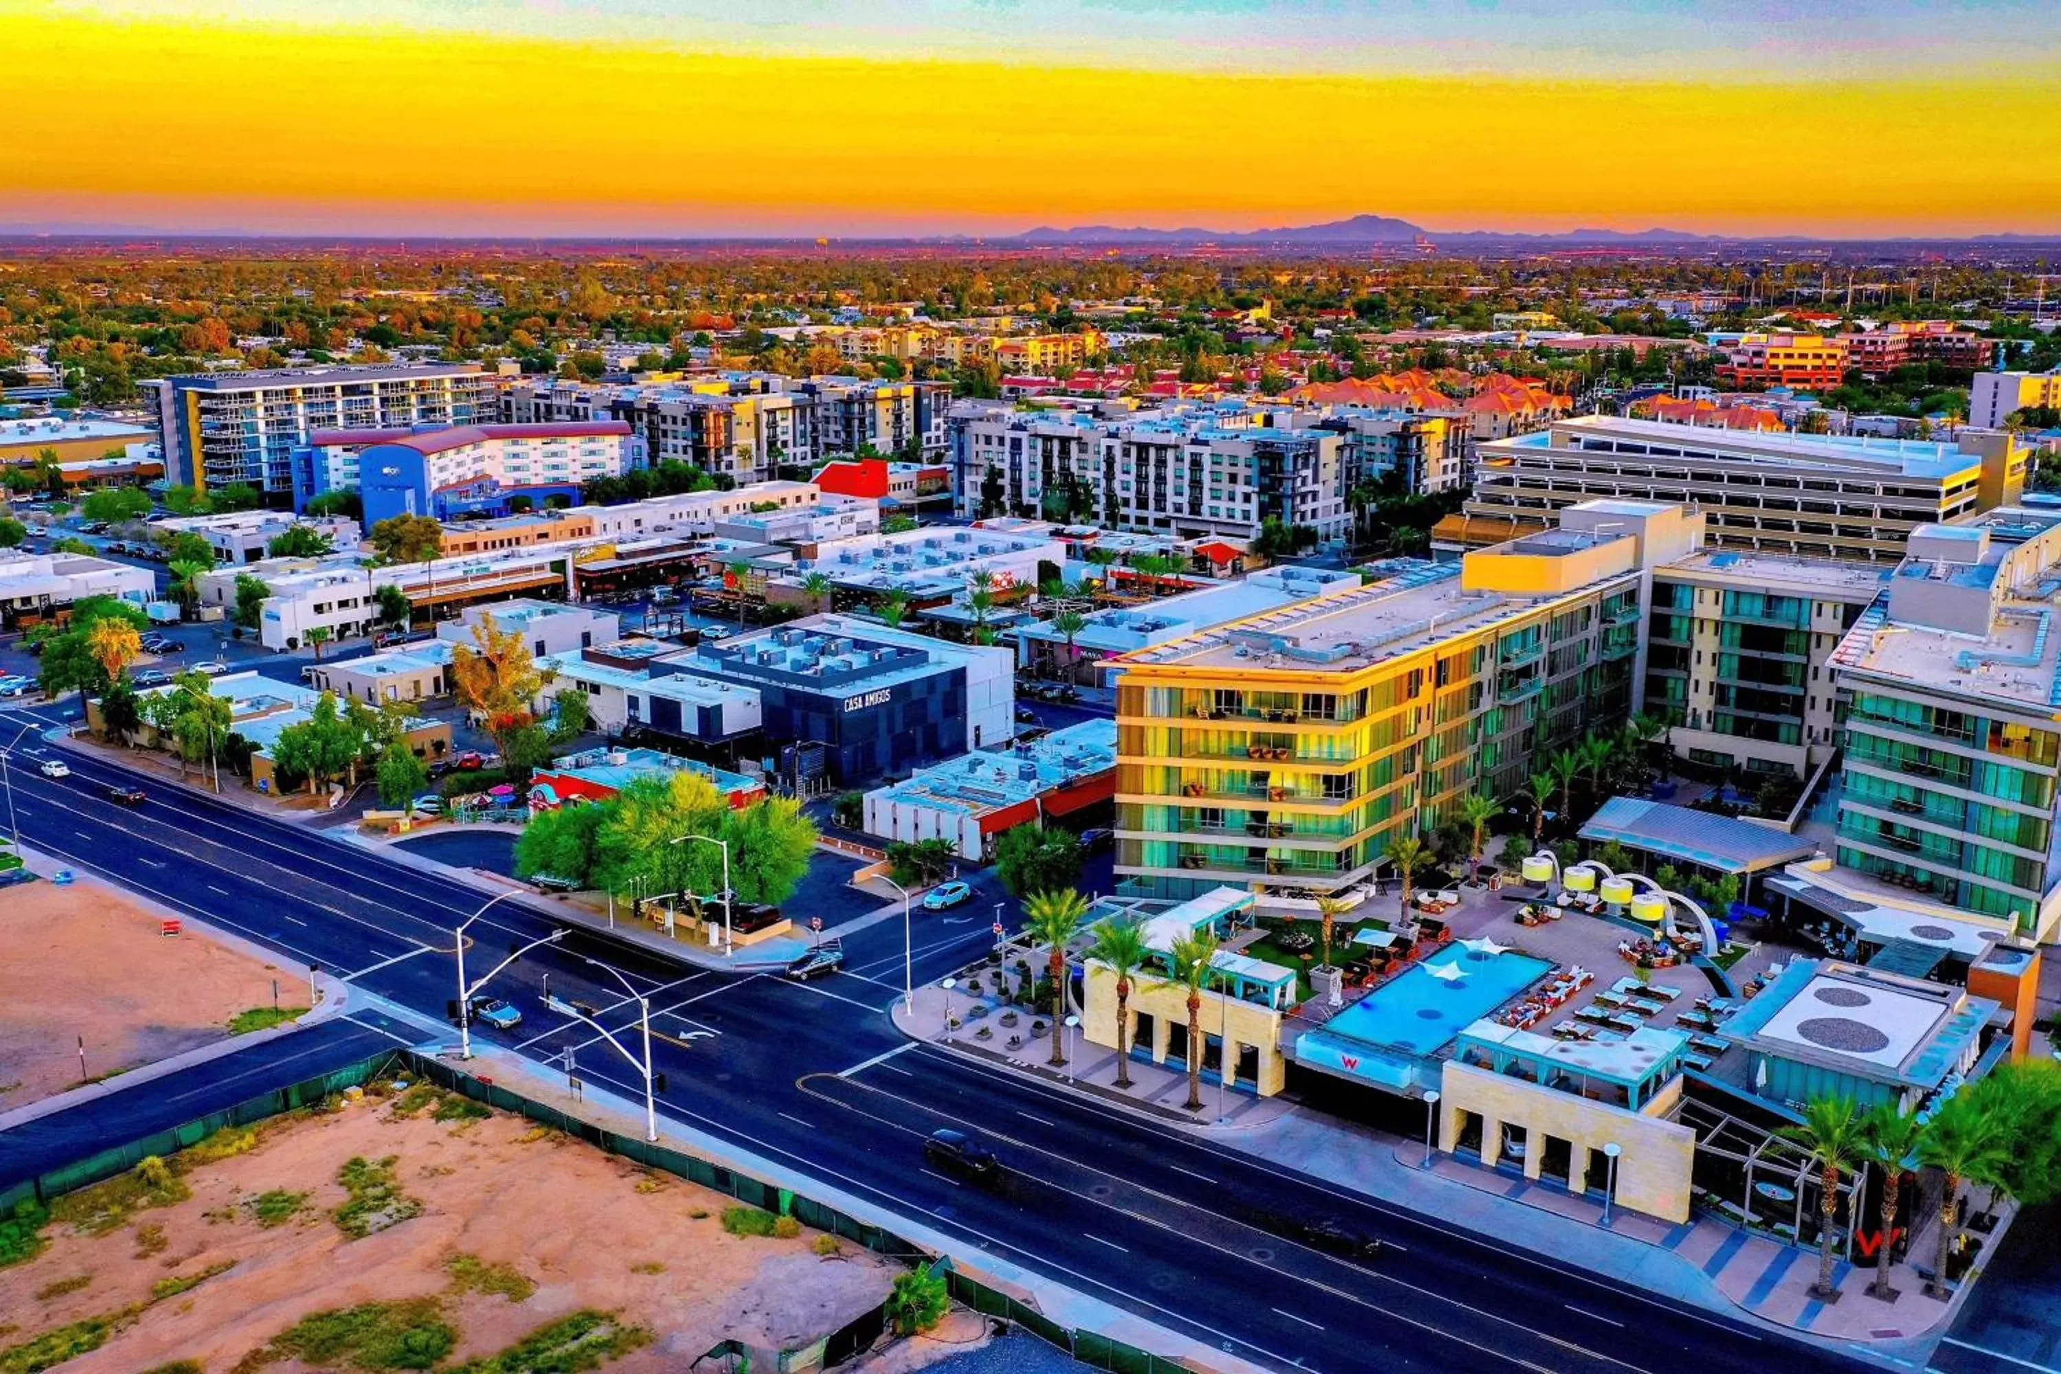
[[[1033,744],[962,754],[866,793],[866,832],[884,840],[950,840],[975,863],[1004,830],[1076,820],[1117,791],[1115,721],[1082,721]]]

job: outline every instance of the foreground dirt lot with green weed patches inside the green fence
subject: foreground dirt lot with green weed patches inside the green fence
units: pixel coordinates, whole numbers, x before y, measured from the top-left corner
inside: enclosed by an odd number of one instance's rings
[[[730,1234],[717,1193],[468,1110],[429,1088],[367,1098],[216,1135],[155,1187],[60,1199],[47,1246],[0,1269],[0,1372],[78,1349],[66,1374],[657,1374],[723,1339],[826,1335],[897,1273],[816,1232]],[[526,1339],[598,1362],[509,1360]]]

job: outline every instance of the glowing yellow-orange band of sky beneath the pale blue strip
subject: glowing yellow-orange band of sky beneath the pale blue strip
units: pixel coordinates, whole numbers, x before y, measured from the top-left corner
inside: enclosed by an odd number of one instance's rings
[[[2007,80],[1226,74],[21,0],[0,0],[0,49],[37,56],[10,62],[0,227],[692,237],[1379,212],[2061,233],[2055,64]]]

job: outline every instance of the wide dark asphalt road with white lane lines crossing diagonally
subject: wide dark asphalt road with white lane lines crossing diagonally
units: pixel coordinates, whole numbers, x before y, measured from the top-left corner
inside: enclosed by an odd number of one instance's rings
[[[16,764],[58,748],[27,744]],[[74,772],[62,781],[14,770],[29,845],[418,1011],[441,1016],[455,995],[453,927],[480,908],[478,890],[155,781],[144,805],[122,808],[103,795],[124,779],[120,766],[68,760]],[[989,921],[985,894],[952,913],[913,913],[915,978],[985,950]],[[812,985],[688,970],[573,933],[486,989],[513,1001],[523,1024],[476,1034],[544,1063],[571,1051],[581,1077],[639,1098],[641,1075],[542,1001],[548,978],[552,995],[596,1007],[618,1034],[633,1030],[635,1005],[585,962],[606,960],[651,999],[664,1117],[1276,1368],[1865,1368],[915,1046],[886,1016],[903,983],[899,927],[853,933],[845,972]],[[468,974],[552,929],[544,904],[497,902],[470,929]],[[989,1137],[1008,1164],[1002,1184],[932,1172],[921,1139],[940,1125]],[[105,1139],[124,1123],[95,1129]],[[1389,1252],[1362,1267],[1288,1238],[1321,1215],[1381,1236]]]

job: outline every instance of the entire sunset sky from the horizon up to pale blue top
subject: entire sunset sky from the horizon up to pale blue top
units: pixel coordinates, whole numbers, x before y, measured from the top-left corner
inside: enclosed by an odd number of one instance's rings
[[[2061,233],[2053,0],[0,0],[0,231]]]

